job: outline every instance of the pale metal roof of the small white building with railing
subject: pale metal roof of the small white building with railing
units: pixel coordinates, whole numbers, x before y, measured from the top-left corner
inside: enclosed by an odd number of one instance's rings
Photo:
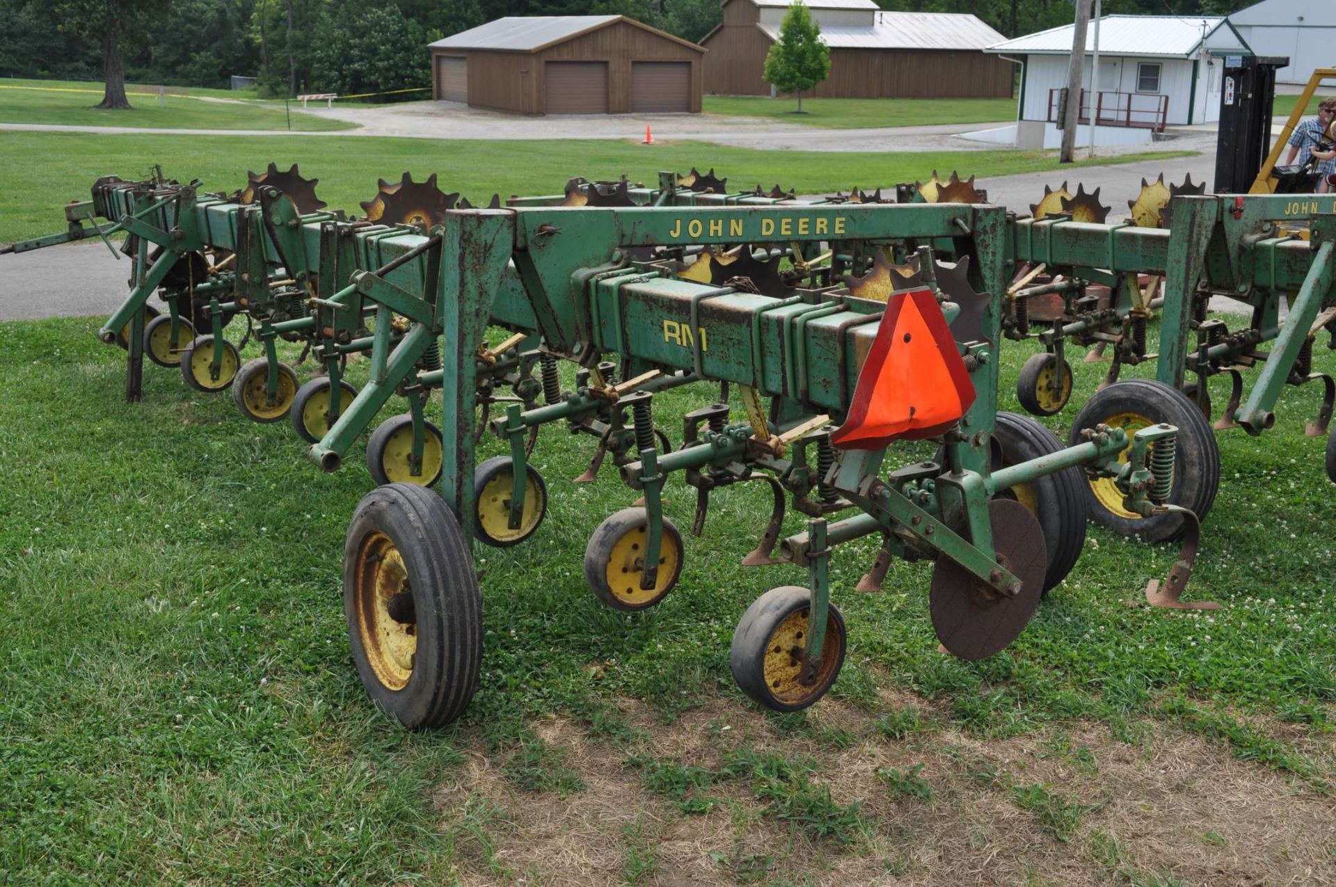
[[[1075,25],[1049,28],[998,43],[987,52],[1009,55],[1070,55]],[[1218,16],[1104,16],[1100,19],[1100,53],[1129,56],[1176,56],[1185,59],[1202,41],[1212,49],[1246,49],[1225,19]],[[1094,51],[1094,23],[1086,31],[1086,52]]]

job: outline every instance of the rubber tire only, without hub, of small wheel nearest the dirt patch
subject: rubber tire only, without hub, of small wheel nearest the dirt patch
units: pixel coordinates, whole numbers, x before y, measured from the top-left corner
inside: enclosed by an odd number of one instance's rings
[[[811,592],[800,585],[772,588],[752,601],[743,617],[737,620],[737,628],[733,629],[733,641],[728,647],[728,668],[733,673],[733,681],[747,696],[776,712],[798,712],[814,705],[835,684],[840,668],[844,667],[844,655],[848,652],[848,631],[839,608],[831,604],[822,653],[826,653],[826,644],[834,637],[839,637],[840,649],[839,657],[835,660],[835,669],[820,692],[803,703],[784,703],[766,684],[766,648],[772,632],[794,612],[811,606]]]

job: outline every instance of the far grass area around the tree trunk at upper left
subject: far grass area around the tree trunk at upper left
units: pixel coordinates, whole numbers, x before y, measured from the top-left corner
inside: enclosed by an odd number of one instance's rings
[[[283,106],[204,102],[198,96],[253,99],[253,94],[191,88],[188,96],[168,95],[158,103],[158,91],[127,85],[130,111],[106,111],[102,84],[64,80],[0,80],[0,123],[48,123],[59,126],[148,127],[171,130],[287,130]],[[298,103],[298,107],[299,103]],[[310,132],[351,130],[355,124],[313,114],[291,112],[291,128]]]

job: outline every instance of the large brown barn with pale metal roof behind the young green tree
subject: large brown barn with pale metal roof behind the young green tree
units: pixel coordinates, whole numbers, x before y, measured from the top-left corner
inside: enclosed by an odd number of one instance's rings
[[[771,95],[766,53],[790,0],[724,0],[724,23],[700,41],[705,92]],[[977,16],[882,12],[872,0],[808,0],[831,72],[815,95],[846,99],[1006,98],[1015,67],[983,48],[1006,37]]]

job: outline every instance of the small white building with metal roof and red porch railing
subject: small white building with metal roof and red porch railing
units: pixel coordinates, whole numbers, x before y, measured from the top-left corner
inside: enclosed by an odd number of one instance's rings
[[[1325,0],[1336,3],[1336,0]],[[1079,143],[1096,122],[1096,144],[1138,144],[1170,126],[1220,119],[1221,59],[1250,53],[1228,19],[1214,16],[1128,16],[1100,19],[1100,75],[1092,79],[1096,23],[1086,31],[1081,75]],[[1071,63],[1073,25],[998,43],[985,52],[1021,65],[1015,144],[1057,147],[1058,104]]]

